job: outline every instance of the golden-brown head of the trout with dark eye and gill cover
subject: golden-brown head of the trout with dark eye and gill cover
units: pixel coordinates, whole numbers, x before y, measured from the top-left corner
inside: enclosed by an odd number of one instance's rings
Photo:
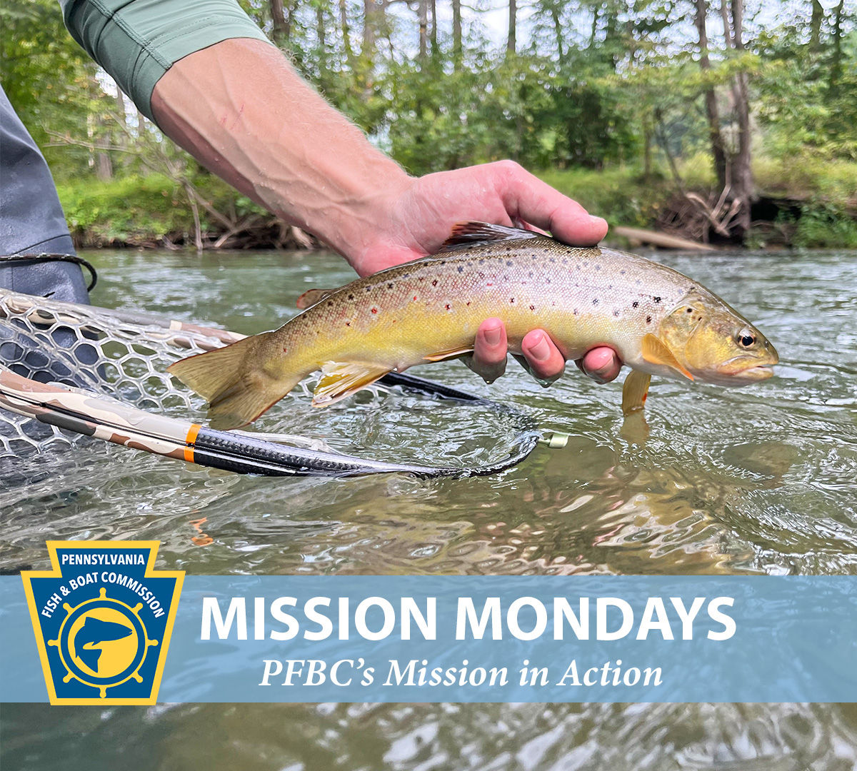
[[[780,358],[749,321],[716,295],[692,290],[661,323],[660,337],[699,380],[745,386],[766,380]]]

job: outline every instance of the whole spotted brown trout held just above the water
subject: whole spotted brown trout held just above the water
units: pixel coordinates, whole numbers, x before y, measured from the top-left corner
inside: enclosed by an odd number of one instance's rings
[[[566,359],[616,350],[632,368],[626,413],[643,406],[653,374],[743,386],[778,361],[749,321],[671,268],[499,225],[457,225],[438,254],[315,297],[278,330],[171,365],[207,398],[213,427],[254,421],[318,369],[323,407],[392,370],[461,356],[489,316],[506,324],[513,353],[536,328]]]

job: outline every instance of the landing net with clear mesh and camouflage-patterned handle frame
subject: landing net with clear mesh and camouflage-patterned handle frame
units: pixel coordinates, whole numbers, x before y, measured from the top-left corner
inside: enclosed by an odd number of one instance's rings
[[[518,409],[396,374],[374,396],[357,397],[350,412],[290,409],[290,403],[294,407],[308,393],[303,386],[303,391],[296,389],[257,421],[249,433],[215,432],[204,426],[201,397],[173,380],[166,368],[184,356],[241,338],[235,332],[155,314],[57,302],[0,289],[0,460],[101,439],[249,473],[401,470],[420,475],[471,475],[517,463],[538,440],[531,419]],[[486,454],[484,447],[470,447],[473,437],[463,437],[455,458],[458,463],[448,466],[424,463],[425,453],[412,462],[401,457],[374,461],[351,456],[353,436],[344,434],[355,433],[358,414],[359,430],[367,434],[373,430],[383,433],[379,421],[392,420],[390,405],[372,406],[379,392],[386,393],[391,386],[399,386],[393,391],[405,393],[396,403],[402,409],[396,413],[395,427],[411,425],[419,430],[440,414],[432,405],[441,398],[450,400],[456,409],[476,410],[489,437],[507,435],[509,440],[500,441],[497,457],[496,452]],[[320,412],[328,416],[315,417]],[[320,431],[308,425],[314,418]],[[372,421],[377,424],[375,429],[367,430]],[[369,449],[371,454],[373,448]]]

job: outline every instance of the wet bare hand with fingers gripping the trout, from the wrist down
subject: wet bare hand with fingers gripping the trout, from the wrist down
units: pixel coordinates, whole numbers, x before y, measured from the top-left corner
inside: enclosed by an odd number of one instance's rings
[[[352,240],[353,251],[348,255],[361,275],[434,254],[452,225],[468,219],[535,226],[575,246],[592,246],[607,232],[602,218],[590,216],[576,201],[512,161],[407,177],[393,185],[381,206],[377,200],[374,206],[381,212],[381,221]],[[524,368],[543,385],[563,373],[565,359],[547,332],[532,330],[524,336],[521,349]],[[487,319],[465,363],[490,383],[506,371],[507,350],[503,322]],[[590,350],[577,364],[601,383],[614,380],[621,368],[619,356],[607,347]]]

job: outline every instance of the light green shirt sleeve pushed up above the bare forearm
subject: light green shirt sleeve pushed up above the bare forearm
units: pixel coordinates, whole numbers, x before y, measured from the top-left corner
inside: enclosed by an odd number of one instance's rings
[[[179,59],[231,38],[267,41],[235,0],[60,0],[65,26],[149,120]]]

